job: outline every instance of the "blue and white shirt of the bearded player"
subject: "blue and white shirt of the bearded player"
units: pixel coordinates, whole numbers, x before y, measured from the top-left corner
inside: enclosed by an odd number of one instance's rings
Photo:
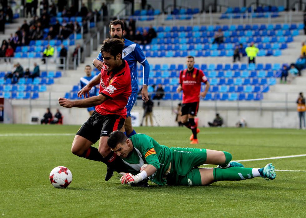
[[[130,40],[124,39],[124,49],[122,51],[122,58],[127,61],[131,70],[131,84],[132,92],[138,91],[138,82],[137,82],[137,62],[143,64],[146,61],[146,56],[144,55],[140,45]],[[99,53],[98,60],[103,61],[101,52]],[[143,71],[143,73],[145,73]],[[147,72],[149,74],[149,72]],[[146,78],[146,81],[145,81]],[[144,76],[143,84],[148,84],[148,78]]]

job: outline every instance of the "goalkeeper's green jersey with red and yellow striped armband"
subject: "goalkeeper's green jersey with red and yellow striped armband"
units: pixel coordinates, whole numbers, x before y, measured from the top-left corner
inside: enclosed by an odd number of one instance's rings
[[[153,138],[145,134],[136,134],[131,136],[133,150],[123,162],[140,171],[143,164],[153,165],[157,171],[149,179],[157,185],[165,185],[165,173],[169,168],[173,157],[173,151],[165,145],[158,144]]]

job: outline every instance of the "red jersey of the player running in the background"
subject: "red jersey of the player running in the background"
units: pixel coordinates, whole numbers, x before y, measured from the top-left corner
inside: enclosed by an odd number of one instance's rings
[[[183,104],[199,102],[200,101],[200,91],[201,91],[201,82],[206,83],[207,78],[202,70],[188,69],[182,70],[180,72],[180,84],[183,90]]]

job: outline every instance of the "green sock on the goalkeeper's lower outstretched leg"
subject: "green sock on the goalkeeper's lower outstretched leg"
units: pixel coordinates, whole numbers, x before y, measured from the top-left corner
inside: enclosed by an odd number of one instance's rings
[[[214,181],[238,181],[254,178],[253,168],[230,167],[226,169],[214,168]],[[258,171],[258,169],[256,169]],[[254,172],[254,171],[253,171]]]

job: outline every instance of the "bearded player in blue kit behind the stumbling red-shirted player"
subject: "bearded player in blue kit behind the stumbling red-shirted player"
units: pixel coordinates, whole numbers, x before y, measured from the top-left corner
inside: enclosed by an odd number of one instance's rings
[[[124,23],[121,20],[111,21],[110,23],[110,35],[112,38],[123,38],[125,34]],[[132,82],[132,94],[126,105],[127,109],[127,118],[124,124],[126,131],[126,136],[131,137],[135,135],[136,132],[132,127],[131,123],[131,109],[134,106],[137,99],[138,83],[137,83],[137,62],[143,66],[143,88],[141,90],[142,100],[147,102],[149,100],[148,96],[148,80],[150,73],[150,66],[144,55],[140,45],[130,40],[124,39],[124,49],[122,51],[122,58],[127,61],[131,69],[131,82]],[[101,52],[99,53],[97,59],[94,59],[92,64],[99,70],[103,66],[103,57]]]

